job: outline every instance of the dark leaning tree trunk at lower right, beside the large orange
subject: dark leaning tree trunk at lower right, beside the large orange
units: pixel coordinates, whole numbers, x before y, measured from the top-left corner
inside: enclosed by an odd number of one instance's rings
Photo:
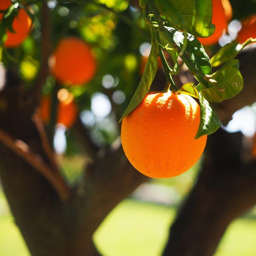
[[[256,162],[244,163],[241,147],[240,133],[220,129],[209,136],[198,181],[170,229],[163,256],[211,256],[228,224],[256,203]]]

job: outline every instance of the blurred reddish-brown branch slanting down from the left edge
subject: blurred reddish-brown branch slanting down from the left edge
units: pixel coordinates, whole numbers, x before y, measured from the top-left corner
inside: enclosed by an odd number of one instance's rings
[[[42,174],[58,192],[61,200],[68,200],[69,188],[65,183],[60,182],[59,179],[56,179],[52,169],[49,168],[49,166],[43,161],[39,154],[35,154],[30,150],[28,144],[22,140],[14,140],[2,129],[0,129],[0,142],[2,142],[2,144],[12,150],[12,152],[20,156],[20,158],[22,158],[25,162],[30,164],[30,166]]]

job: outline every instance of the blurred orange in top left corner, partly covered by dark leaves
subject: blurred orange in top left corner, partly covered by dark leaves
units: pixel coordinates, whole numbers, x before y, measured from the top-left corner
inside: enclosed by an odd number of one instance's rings
[[[0,10],[6,10],[13,2],[11,0],[1,0]],[[3,13],[0,13],[0,20],[2,20]],[[6,47],[17,47],[19,46],[30,34],[30,28],[32,25],[32,20],[28,16],[24,9],[18,11],[18,16],[16,16],[12,23],[12,28],[15,33],[7,30],[7,38],[4,42]]]

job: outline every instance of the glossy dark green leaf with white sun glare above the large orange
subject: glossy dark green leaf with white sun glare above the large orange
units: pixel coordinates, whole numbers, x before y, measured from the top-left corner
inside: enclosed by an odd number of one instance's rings
[[[192,34],[180,32],[171,27],[164,28],[165,30],[161,30],[161,32],[164,33],[168,42],[178,52],[180,58],[198,81],[207,87],[208,80],[205,75],[212,74],[212,65],[202,44]],[[187,34],[187,40],[185,40],[185,34]]]

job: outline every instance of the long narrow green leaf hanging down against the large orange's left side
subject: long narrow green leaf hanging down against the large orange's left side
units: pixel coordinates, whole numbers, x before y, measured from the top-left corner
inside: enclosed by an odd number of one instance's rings
[[[138,85],[138,88],[136,89],[130,103],[128,104],[126,110],[124,111],[124,114],[122,115],[118,123],[120,123],[128,114],[130,114],[130,112],[132,112],[132,110],[134,110],[134,108],[136,108],[140,104],[140,102],[148,93],[150,86],[154,80],[157,70],[158,55],[156,45],[153,42],[155,42],[154,39],[152,39],[150,54],[148,56],[145,70]]]

